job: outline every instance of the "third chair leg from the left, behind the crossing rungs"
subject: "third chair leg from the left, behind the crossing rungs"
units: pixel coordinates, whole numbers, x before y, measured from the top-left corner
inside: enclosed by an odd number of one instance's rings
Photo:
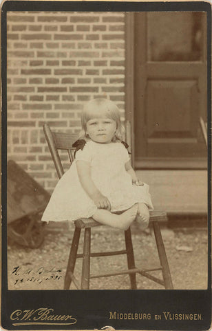
[[[125,244],[126,244],[126,250],[127,250],[127,265],[128,269],[134,269],[135,267],[135,259],[134,259],[134,249],[131,242],[131,229],[125,231]],[[129,274],[129,279],[131,283],[131,289],[136,290],[137,284],[136,284],[136,273]]]

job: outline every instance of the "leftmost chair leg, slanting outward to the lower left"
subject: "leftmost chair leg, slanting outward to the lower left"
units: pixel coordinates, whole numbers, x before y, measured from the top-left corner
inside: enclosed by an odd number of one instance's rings
[[[67,269],[65,273],[65,282],[64,282],[64,290],[69,290],[70,285],[72,283],[72,278],[70,277],[70,272],[74,272],[74,267],[76,263],[76,254],[78,250],[78,242],[81,236],[81,228],[75,228],[74,237],[72,239],[72,247],[70,250],[70,257],[67,263]]]

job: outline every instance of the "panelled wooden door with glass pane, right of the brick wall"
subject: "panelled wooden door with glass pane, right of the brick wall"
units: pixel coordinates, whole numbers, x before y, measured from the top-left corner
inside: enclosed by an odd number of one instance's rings
[[[206,13],[134,14],[134,165],[206,168]]]

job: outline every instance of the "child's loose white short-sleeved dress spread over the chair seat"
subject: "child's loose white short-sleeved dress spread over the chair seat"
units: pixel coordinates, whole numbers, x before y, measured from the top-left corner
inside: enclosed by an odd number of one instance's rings
[[[76,170],[77,161],[88,161],[96,188],[109,199],[112,212],[127,210],[135,203],[146,203],[153,209],[149,185],[132,185],[125,170],[129,154],[123,143],[95,143],[88,141],[83,150],[56,184],[52,197],[43,213],[42,221],[74,221],[92,217],[97,207],[82,188]]]

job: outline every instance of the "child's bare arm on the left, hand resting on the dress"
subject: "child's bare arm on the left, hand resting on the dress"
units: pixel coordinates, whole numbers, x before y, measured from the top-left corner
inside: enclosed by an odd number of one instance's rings
[[[90,165],[89,162],[77,161],[76,169],[78,172],[78,178],[81,182],[81,185],[87,195],[94,201],[95,205],[98,208],[111,210],[111,205],[107,197],[105,197],[101,192],[96,188],[92,177],[90,174]]]

